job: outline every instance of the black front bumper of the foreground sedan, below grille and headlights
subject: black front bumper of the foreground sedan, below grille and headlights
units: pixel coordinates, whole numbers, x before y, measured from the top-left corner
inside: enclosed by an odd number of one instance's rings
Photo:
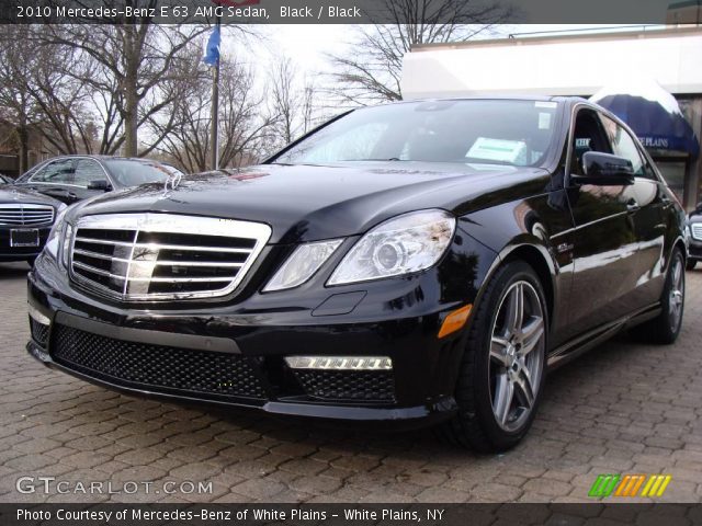
[[[158,313],[128,309],[75,289],[48,258],[39,258],[29,277],[30,309],[48,323],[31,318],[27,351],[93,384],[184,402],[404,426],[456,411],[465,331],[437,338],[458,305],[428,294],[437,287],[433,272],[346,293],[352,302],[392,306],[375,309],[376,319],[361,305],[328,316],[299,307],[257,309],[251,301]],[[390,290],[395,298],[386,301]],[[302,375],[285,363],[294,355],[387,356],[393,369]]]

